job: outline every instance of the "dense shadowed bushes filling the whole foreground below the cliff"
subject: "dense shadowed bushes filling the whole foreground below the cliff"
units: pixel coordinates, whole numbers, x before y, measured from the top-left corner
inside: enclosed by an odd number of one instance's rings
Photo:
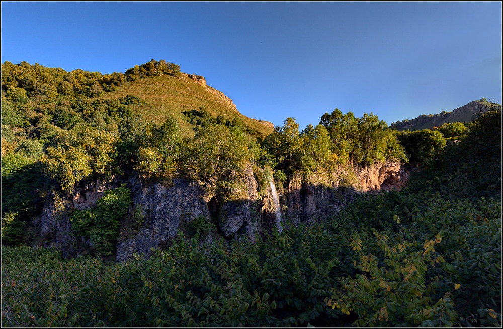
[[[396,195],[366,198],[377,204]],[[499,202],[420,201],[403,218],[379,211],[363,217],[358,231],[341,225],[352,211],[326,224],[274,231],[255,244],[201,245],[199,234],[191,240],[179,234],[150,259],[124,264],[3,248],[2,320],[7,326],[500,325]],[[370,229],[380,221],[395,227]]]

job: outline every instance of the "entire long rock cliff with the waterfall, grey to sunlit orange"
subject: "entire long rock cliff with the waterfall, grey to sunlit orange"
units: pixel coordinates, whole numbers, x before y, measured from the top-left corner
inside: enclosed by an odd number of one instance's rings
[[[152,247],[169,244],[181,225],[198,216],[211,218],[218,233],[226,239],[253,240],[256,234],[274,226],[329,218],[351,202],[355,193],[399,189],[408,178],[408,172],[399,163],[388,161],[370,167],[340,167],[330,174],[307,178],[294,175],[285,184],[274,185],[268,181],[259,187],[248,164],[244,172],[232,177],[235,187],[221,204],[200,184],[181,178],[149,184],[142,184],[137,177],[128,181],[113,178],[79,184],[70,199],[48,196],[36,224],[40,226],[46,245],[71,256],[76,251],[70,247],[68,210],[88,209],[107,189],[127,184],[133,198],[130,211],[139,211],[143,223],[136,231],[122,228],[116,260],[124,262],[134,253],[149,257]]]

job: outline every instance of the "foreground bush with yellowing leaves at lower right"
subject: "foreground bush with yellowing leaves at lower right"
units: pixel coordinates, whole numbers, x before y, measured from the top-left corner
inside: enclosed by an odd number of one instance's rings
[[[437,299],[432,296],[437,281],[427,285],[426,280],[428,271],[436,264],[433,245],[440,243],[441,235],[427,241],[423,251],[421,245],[406,240],[390,246],[388,236],[377,231],[374,234],[384,259],[365,255],[362,241],[355,235],[351,246],[358,252],[355,267],[362,274],[343,279],[342,289],[326,298],[327,305],[347,315],[355,312],[359,318],[354,322],[357,326],[453,326],[458,318],[452,297],[454,286]]]

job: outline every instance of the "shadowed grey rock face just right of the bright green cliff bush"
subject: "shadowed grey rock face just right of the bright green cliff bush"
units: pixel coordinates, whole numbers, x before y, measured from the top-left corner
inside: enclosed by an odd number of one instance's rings
[[[197,216],[209,217],[207,196],[200,185],[184,179],[173,179],[170,185],[153,183],[142,186],[137,178],[130,180],[133,206],[141,207],[143,227],[132,237],[121,233],[117,243],[117,261],[124,262],[133,253],[150,256],[150,249],[169,242],[177,234],[181,221]]]

